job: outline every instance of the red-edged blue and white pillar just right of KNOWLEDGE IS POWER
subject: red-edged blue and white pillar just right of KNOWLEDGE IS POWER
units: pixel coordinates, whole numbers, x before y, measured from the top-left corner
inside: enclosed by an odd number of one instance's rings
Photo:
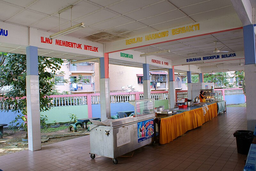
[[[168,85],[168,103],[169,108],[175,107],[176,102],[176,92],[175,92],[175,79],[174,79],[174,67],[169,69],[169,85]]]

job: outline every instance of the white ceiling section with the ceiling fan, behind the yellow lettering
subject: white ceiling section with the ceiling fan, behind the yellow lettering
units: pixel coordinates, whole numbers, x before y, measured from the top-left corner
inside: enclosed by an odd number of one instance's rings
[[[222,51],[235,52],[244,50],[242,29],[171,41],[142,48],[135,48],[133,50],[147,53],[158,51],[159,48],[160,50],[169,49],[171,53],[159,54],[158,56],[176,60],[180,58],[213,55],[213,50],[215,49],[213,41],[218,41],[217,48]]]

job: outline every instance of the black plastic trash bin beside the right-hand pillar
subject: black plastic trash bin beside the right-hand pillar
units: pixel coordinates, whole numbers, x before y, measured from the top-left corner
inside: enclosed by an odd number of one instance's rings
[[[253,131],[237,130],[233,135],[236,137],[237,152],[247,155],[252,144],[252,140],[255,137],[253,135]]]

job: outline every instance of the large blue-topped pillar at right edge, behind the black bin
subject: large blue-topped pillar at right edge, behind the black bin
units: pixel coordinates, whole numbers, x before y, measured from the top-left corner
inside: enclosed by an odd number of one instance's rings
[[[256,124],[256,57],[255,57],[255,33],[254,26],[243,27],[244,32],[244,57],[245,57],[245,90],[246,90],[246,115],[247,129],[254,130]]]

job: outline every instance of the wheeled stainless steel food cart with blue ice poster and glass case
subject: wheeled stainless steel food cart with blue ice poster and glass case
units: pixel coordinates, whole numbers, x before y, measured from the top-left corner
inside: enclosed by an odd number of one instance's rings
[[[135,115],[113,119],[109,126],[90,125],[91,158],[95,154],[113,159],[152,142],[154,136],[154,100],[135,100]]]

